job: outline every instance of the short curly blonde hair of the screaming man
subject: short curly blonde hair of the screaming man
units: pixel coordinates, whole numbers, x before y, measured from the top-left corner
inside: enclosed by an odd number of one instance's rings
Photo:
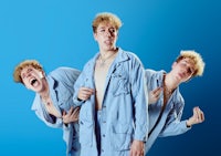
[[[14,67],[13,80],[17,83],[23,83],[21,71],[27,66],[33,66],[36,70],[43,71],[43,66],[36,60],[25,60]]]

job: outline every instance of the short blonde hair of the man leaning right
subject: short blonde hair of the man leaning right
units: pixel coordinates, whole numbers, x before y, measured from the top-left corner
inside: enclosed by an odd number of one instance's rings
[[[179,62],[182,59],[191,59],[194,63],[194,73],[192,76],[201,76],[204,71],[204,62],[202,60],[202,56],[192,50],[186,50],[186,51],[180,51],[180,55],[177,58],[176,62]]]

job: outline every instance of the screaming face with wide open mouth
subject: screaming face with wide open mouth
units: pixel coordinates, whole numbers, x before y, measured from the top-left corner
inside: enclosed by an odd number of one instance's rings
[[[33,66],[29,65],[25,66],[21,71],[21,79],[23,81],[23,84],[27,89],[30,89],[34,92],[41,92],[43,90],[43,72],[35,70]]]

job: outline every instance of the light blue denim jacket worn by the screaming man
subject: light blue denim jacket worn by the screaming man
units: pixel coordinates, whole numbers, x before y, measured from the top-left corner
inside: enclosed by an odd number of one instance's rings
[[[80,71],[71,67],[59,67],[52,71],[48,76],[50,96],[53,101],[57,112],[62,114],[63,111],[69,112],[73,104],[74,83],[80,75]],[[80,156],[78,143],[78,123],[63,124],[62,118],[56,118],[50,115],[42,103],[39,94],[32,104],[32,111],[38,117],[48,126],[54,128],[63,128],[63,139],[66,143],[66,155]]]

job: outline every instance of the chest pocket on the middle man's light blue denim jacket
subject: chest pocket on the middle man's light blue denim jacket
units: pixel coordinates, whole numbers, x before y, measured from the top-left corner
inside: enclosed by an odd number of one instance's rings
[[[129,75],[124,70],[123,65],[116,69],[112,74],[110,85],[114,96],[129,93]]]

